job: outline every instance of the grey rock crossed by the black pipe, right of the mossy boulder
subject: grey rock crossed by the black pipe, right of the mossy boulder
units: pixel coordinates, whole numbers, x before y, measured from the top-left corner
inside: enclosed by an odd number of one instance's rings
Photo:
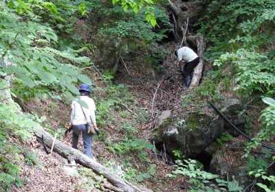
[[[239,130],[245,132],[245,115],[246,111],[241,106],[241,101],[238,99],[225,99],[221,101],[221,112],[227,117]],[[225,121],[224,126],[226,132],[233,136],[239,136],[239,132],[236,132],[232,126]]]

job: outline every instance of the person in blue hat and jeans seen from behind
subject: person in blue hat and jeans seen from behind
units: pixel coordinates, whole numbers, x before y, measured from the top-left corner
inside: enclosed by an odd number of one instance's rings
[[[91,132],[90,133],[87,132],[87,125],[88,123],[91,123],[91,125],[94,125],[94,129],[96,130],[96,133],[99,134],[98,127],[96,126],[96,115],[95,115],[96,104],[94,103],[94,100],[90,98],[91,90],[87,84],[80,85],[79,92],[80,92],[80,100],[85,101],[85,103],[88,105],[89,108],[84,108],[83,106],[80,106],[80,104],[78,104],[77,101],[72,102],[71,121],[69,123],[68,129],[66,130],[65,134],[73,130],[72,147],[74,149],[77,149],[78,137],[82,132],[83,143],[85,148],[84,153],[85,155],[91,158],[92,135],[91,135]]]

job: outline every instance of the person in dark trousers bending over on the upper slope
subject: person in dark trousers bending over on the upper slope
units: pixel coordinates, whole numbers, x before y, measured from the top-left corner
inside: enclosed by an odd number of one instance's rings
[[[180,49],[177,49],[175,51],[175,56],[177,56],[177,67],[180,67],[183,64],[183,60],[187,62],[184,65],[184,70],[182,72],[182,75],[184,76],[184,81],[186,82],[186,87],[188,88],[191,83],[191,75],[194,68],[199,63],[199,56],[197,56],[197,53],[195,53],[192,49],[189,47],[181,47]]]

